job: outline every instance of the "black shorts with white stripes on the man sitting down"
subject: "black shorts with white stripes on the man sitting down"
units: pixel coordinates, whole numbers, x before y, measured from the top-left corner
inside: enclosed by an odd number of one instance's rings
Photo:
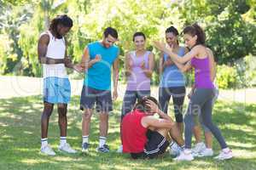
[[[156,131],[148,130],[147,138],[148,142],[145,145],[145,150],[141,153],[131,153],[133,159],[155,158],[165,153],[166,148],[169,146],[166,138]]]

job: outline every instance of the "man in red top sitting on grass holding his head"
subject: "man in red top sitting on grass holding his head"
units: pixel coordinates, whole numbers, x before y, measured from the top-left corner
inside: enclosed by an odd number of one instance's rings
[[[154,116],[158,114],[160,118]],[[154,158],[163,154],[169,145],[169,134],[180,146],[184,144],[172,118],[160,111],[153,97],[144,97],[126,114],[121,123],[123,152],[131,157]]]

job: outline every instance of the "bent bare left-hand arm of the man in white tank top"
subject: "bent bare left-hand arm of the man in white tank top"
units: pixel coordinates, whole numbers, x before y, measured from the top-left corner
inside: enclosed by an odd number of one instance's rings
[[[49,35],[45,33],[38,40],[39,63],[46,64],[46,65],[63,64],[64,59],[52,59],[52,58],[46,57],[48,44],[49,44]]]

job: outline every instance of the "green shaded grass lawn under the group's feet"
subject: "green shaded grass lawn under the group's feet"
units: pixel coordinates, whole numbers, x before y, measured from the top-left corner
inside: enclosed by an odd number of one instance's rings
[[[0,169],[256,169],[256,105],[218,101],[214,107],[214,121],[224,133],[235,155],[229,161],[212,158],[192,162],[176,162],[166,153],[155,160],[131,160],[128,155],[115,153],[119,142],[119,115],[121,101],[114,103],[110,116],[108,154],[95,151],[98,144],[98,119],[93,116],[90,133],[90,153],[80,152],[81,111],[79,97],[73,97],[68,107],[68,142],[79,153],[44,156],[40,148],[40,116],[43,109],[41,96],[0,99]],[[57,150],[59,127],[54,111],[49,123],[49,143]],[[219,146],[213,144],[215,153]]]

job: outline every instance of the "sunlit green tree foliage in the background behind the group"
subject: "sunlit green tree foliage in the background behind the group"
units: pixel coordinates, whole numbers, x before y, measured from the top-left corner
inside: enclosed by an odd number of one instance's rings
[[[119,31],[121,80],[124,54],[134,48],[131,38],[135,31],[146,34],[147,48],[152,50],[152,40],[163,39],[166,27],[173,25],[181,32],[184,26],[199,22],[218,63],[235,65],[239,77],[244,77],[243,70],[236,60],[256,54],[255,0],[19,0],[0,4],[0,37],[4,40],[0,42],[0,74],[41,76],[38,37],[56,14],[68,14],[73,19],[67,54],[74,62],[80,61],[89,42],[102,38],[104,28],[113,26]],[[182,43],[183,38],[179,39]],[[157,53],[154,51],[154,84],[160,78]],[[193,80],[187,77],[189,82]],[[244,81],[240,78],[238,82]]]

